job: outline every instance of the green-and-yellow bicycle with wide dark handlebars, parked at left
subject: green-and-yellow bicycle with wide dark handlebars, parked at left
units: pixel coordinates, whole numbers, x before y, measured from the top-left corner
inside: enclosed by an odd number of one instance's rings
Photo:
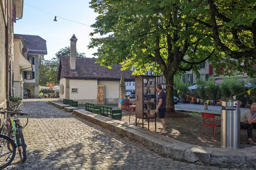
[[[19,124],[19,120],[14,118],[15,114],[24,114],[24,113],[7,112],[7,111],[0,112],[0,113],[9,115],[12,127],[10,127],[8,129],[7,136],[9,136],[11,139],[13,139],[13,141],[15,141],[15,145],[16,145],[16,147],[18,147],[20,159],[22,162],[25,162],[27,159],[27,155],[26,155],[26,147],[27,146],[25,144],[25,140],[24,140],[23,133],[21,130],[21,125]],[[27,115],[27,114],[25,114],[25,115]],[[8,141],[7,141],[7,148],[9,151],[13,151],[12,144]]]

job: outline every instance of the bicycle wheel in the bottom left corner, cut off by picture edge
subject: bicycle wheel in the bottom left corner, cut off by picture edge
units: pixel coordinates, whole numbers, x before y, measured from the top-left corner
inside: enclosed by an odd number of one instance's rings
[[[3,169],[12,163],[15,157],[16,149],[15,143],[10,137],[0,134],[0,138],[1,140],[6,140],[5,143],[8,141],[12,144],[12,151],[9,151],[6,145],[0,147],[0,169]]]

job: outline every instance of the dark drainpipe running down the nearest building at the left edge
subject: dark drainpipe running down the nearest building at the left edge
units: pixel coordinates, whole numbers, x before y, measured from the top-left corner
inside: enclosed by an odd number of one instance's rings
[[[8,20],[8,19],[7,19]],[[5,53],[6,53],[6,61],[5,61],[5,97],[6,97],[6,107],[9,108],[10,107],[10,101],[9,101],[9,94],[8,94],[8,81],[9,81],[9,78],[8,78],[8,73],[9,73],[9,55],[8,55],[8,50],[9,50],[9,42],[8,42],[8,21],[7,21],[7,26],[5,27]]]

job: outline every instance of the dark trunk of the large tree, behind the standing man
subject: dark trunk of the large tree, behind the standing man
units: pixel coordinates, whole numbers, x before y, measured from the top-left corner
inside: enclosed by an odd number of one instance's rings
[[[174,112],[174,101],[173,101],[173,81],[174,74],[165,76],[166,80],[166,112]],[[167,85],[169,85],[167,87]]]

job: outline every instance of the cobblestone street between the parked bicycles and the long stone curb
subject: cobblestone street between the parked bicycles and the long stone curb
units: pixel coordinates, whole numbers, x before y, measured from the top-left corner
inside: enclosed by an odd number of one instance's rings
[[[24,100],[23,112],[29,114],[29,124],[23,130],[27,161],[21,163],[17,153],[7,169],[228,170],[162,157],[72,113],[48,105],[46,100]]]

